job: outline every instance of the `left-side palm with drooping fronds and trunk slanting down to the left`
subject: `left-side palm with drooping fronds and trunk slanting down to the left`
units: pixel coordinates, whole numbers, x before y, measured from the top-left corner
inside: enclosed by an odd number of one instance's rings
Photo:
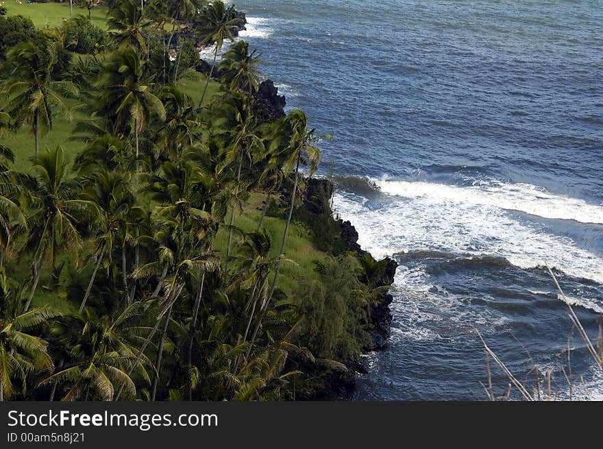
[[[78,223],[82,215],[94,216],[98,213],[93,202],[78,197],[81,184],[69,178],[64,151],[58,147],[54,151],[32,158],[35,177],[27,180],[27,188],[32,195],[32,213],[27,217],[29,236],[25,250],[34,253],[32,260],[32,287],[23,311],[29,309],[40,280],[42,260],[50,256],[54,269],[56,247],[70,250],[77,262],[82,238]]]

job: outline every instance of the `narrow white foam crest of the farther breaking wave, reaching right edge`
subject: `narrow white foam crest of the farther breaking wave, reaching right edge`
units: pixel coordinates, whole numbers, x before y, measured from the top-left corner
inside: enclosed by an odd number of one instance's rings
[[[603,206],[582,199],[554,195],[532,184],[447,186],[430,182],[406,182],[387,179],[373,180],[384,193],[405,198],[436,198],[477,206],[494,206],[519,210],[550,219],[566,219],[581,223],[603,223]]]

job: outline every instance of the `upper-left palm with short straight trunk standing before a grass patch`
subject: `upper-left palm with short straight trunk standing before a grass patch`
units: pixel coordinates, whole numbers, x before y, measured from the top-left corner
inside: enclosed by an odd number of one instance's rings
[[[68,81],[53,81],[52,70],[57,62],[53,44],[37,47],[25,42],[13,47],[7,54],[10,77],[5,81],[6,112],[14,117],[16,128],[27,123],[34,134],[35,156],[38,156],[40,134],[52,129],[53,106],[58,106],[71,120],[73,115],[61,98],[77,95],[77,88]]]

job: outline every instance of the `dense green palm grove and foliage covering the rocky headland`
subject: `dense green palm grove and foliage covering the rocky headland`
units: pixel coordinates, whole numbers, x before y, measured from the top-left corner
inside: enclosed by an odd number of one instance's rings
[[[299,255],[287,249],[299,171],[315,171],[323,136],[301,111],[258,122],[262,75],[243,41],[223,58],[221,92],[209,99],[208,80],[194,104],[178,86],[195,45],[232,40],[238,19],[220,1],[163,3],[111,1],[109,32],[77,18],[40,34],[0,17],[0,125],[34,136],[0,145],[0,400],[309,398],[368,341],[366,264],[321,241],[334,255],[310,282],[283,271]],[[77,154],[40,149],[74,110],[87,117]],[[31,156],[23,173],[14,152]],[[253,198],[265,206],[243,228]],[[315,237],[335,236],[330,214],[317,223]]]

